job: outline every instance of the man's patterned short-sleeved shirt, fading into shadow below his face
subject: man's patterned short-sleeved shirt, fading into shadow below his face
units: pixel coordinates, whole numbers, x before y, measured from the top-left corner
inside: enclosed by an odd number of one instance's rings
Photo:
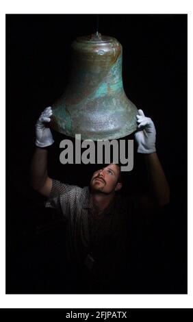
[[[68,260],[89,270],[96,280],[113,279],[128,256],[135,203],[118,195],[100,216],[94,215],[89,187],[53,179],[46,207],[57,209],[66,221]],[[131,230],[132,227],[132,230]]]

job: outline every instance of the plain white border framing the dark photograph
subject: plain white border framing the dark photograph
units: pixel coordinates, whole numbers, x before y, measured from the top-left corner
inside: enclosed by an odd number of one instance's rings
[[[192,308],[192,1],[1,0],[0,308]],[[188,295],[5,295],[5,14],[188,14]],[[191,95],[191,96],[190,96]],[[180,125],[179,125],[180,128]],[[178,135],[178,133],[177,133]],[[19,140],[19,138],[18,138]],[[172,143],[171,143],[172,144]],[[3,152],[3,153],[2,153]],[[179,153],[180,147],[179,147]],[[2,206],[3,205],[3,206]],[[183,216],[184,214],[182,214]],[[3,264],[2,264],[3,263]]]

